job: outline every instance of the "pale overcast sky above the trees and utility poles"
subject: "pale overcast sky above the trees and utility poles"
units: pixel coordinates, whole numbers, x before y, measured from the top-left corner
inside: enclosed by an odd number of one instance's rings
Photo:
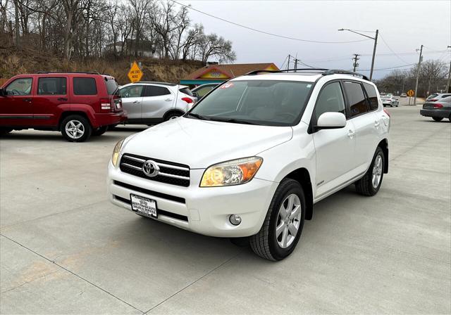
[[[451,0],[444,1],[223,1],[177,0],[204,13],[233,23],[284,37],[313,41],[359,41],[320,44],[261,34],[190,10],[192,23],[202,23],[206,33],[216,33],[233,42],[235,63],[276,63],[286,68],[288,54],[317,68],[352,70],[352,56],[360,56],[358,72],[369,75],[372,39],[338,29],[362,30],[374,37],[379,30],[373,77],[394,68],[418,63],[424,45],[424,60],[450,63]],[[368,31],[368,32],[367,32]],[[371,32],[373,31],[373,32]],[[293,66],[293,64],[292,64]],[[300,66],[305,68],[304,66]],[[298,67],[298,68],[300,68]]]

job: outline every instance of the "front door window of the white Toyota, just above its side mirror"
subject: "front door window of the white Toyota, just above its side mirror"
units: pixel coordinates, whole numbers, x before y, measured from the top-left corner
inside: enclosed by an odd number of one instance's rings
[[[330,83],[321,90],[315,105],[316,122],[321,114],[327,112],[345,114],[345,99],[340,82]]]

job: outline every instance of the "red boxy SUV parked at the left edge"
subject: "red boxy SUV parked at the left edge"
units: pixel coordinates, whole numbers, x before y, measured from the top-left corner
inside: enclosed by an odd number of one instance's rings
[[[118,83],[94,72],[16,75],[0,89],[0,133],[56,130],[82,142],[127,119]]]

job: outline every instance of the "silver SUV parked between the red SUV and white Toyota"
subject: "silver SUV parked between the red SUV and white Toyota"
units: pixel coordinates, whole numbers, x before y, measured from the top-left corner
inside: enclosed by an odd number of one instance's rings
[[[127,110],[126,124],[155,124],[185,114],[196,98],[184,85],[136,82],[121,86],[119,94]]]

